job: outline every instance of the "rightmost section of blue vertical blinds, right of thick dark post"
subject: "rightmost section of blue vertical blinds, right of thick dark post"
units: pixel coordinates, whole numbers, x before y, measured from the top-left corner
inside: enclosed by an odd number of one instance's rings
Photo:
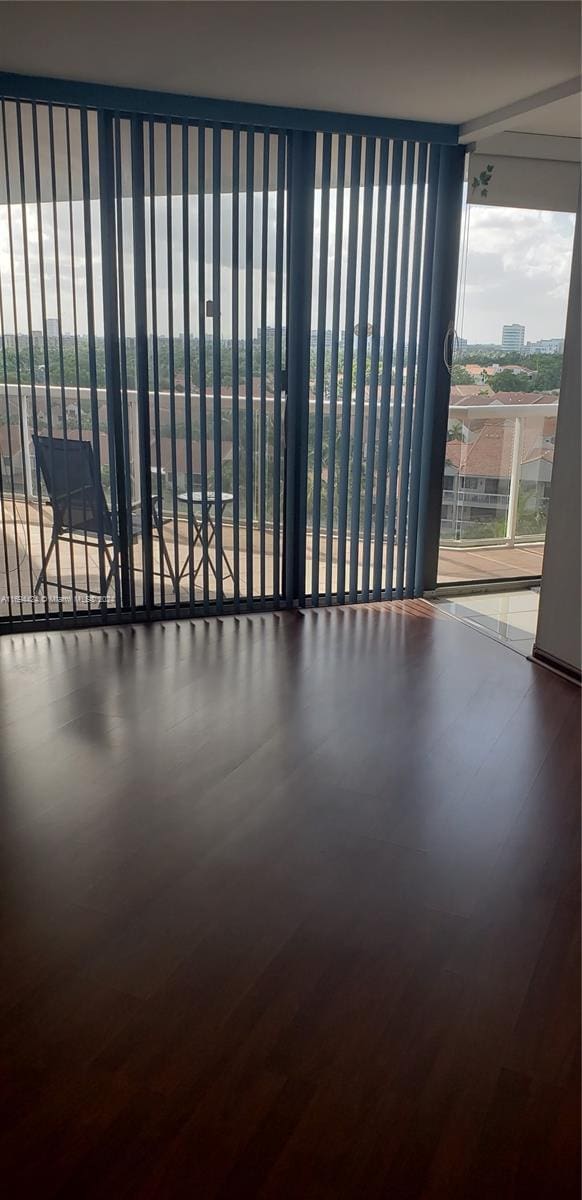
[[[412,595],[439,146],[317,140],[312,604]]]

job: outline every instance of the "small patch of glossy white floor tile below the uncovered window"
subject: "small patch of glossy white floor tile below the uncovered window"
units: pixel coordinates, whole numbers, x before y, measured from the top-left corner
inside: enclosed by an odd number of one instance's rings
[[[436,604],[468,625],[493,635],[520,654],[530,654],[538,624],[539,588],[521,592],[488,592],[484,595],[448,596]]]

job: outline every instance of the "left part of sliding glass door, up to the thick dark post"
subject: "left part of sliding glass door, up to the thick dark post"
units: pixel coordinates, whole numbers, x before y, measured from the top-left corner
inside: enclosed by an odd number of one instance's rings
[[[5,102],[0,620],[277,604],[287,134]]]

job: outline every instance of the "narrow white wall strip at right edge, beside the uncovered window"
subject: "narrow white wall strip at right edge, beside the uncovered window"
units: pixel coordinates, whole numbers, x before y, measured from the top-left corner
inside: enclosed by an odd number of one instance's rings
[[[552,494],[534,656],[580,672],[581,661],[581,214],[574,239]]]

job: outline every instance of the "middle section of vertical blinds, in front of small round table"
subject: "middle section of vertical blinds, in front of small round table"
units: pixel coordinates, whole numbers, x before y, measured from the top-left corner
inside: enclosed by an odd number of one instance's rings
[[[150,121],[143,144],[155,602],[278,601],[286,137]]]

